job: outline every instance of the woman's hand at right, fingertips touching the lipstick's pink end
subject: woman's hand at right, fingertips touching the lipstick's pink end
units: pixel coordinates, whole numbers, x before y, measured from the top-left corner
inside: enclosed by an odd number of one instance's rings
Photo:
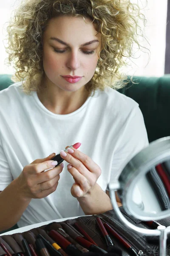
[[[68,148],[68,147],[66,147]],[[68,162],[68,172],[73,176],[75,183],[71,187],[71,195],[75,198],[84,197],[93,189],[96,181],[101,175],[100,167],[86,154],[77,149],[68,148],[69,152],[61,151],[61,157]],[[62,153],[66,153],[63,156]]]

